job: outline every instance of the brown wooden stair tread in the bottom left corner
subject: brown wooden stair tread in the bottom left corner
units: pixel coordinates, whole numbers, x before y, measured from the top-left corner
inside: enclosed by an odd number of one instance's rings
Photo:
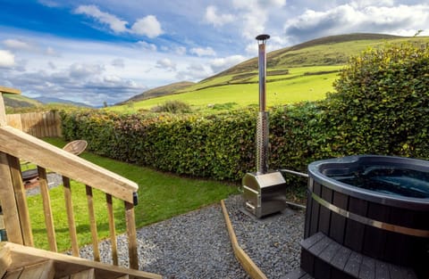
[[[8,270],[4,279],[53,279],[55,275],[54,262],[46,260],[27,267]]]

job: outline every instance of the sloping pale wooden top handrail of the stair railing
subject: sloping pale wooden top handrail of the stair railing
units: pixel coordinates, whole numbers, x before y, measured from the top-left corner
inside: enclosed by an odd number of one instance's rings
[[[127,178],[13,127],[0,127],[0,152],[52,169],[62,176],[91,185],[123,201],[132,203],[132,193],[139,189],[136,183]]]

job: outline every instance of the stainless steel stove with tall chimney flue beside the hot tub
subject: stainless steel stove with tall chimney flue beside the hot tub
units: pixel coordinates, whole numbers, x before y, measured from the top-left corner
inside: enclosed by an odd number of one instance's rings
[[[269,35],[257,36],[259,48],[259,113],[257,116],[257,172],[242,180],[244,207],[256,217],[286,208],[286,181],[279,171],[268,171],[268,112],[266,110],[266,54]]]

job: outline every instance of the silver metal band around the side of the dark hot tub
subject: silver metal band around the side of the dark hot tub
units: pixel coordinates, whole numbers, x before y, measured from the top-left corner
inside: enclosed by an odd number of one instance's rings
[[[394,233],[408,234],[408,235],[419,236],[419,237],[429,237],[429,231],[409,228],[406,226],[392,225],[392,224],[380,222],[368,217],[363,217],[363,216],[357,215],[356,213],[350,212],[346,209],[341,209],[328,201],[324,201],[324,199],[322,199],[315,193],[311,193],[311,197],[313,198],[313,200],[317,201],[320,205],[323,205],[326,209],[330,209],[332,212],[340,214],[342,217],[347,217],[361,224],[364,224],[367,226],[374,226],[374,227],[381,228],[383,230],[391,231]]]

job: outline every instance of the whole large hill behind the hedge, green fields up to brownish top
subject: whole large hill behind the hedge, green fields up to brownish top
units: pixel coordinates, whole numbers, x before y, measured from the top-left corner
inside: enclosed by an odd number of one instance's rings
[[[406,41],[428,44],[429,37],[349,34],[317,38],[267,53],[267,104],[273,106],[323,99],[326,92],[332,91],[332,82],[351,55],[386,42],[401,44]],[[194,110],[203,111],[224,107],[223,104],[229,104],[228,108],[257,104],[257,70],[255,57],[194,85],[169,92],[169,95],[158,94],[156,98],[109,110],[148,110],[167,100],[189,103]]]

